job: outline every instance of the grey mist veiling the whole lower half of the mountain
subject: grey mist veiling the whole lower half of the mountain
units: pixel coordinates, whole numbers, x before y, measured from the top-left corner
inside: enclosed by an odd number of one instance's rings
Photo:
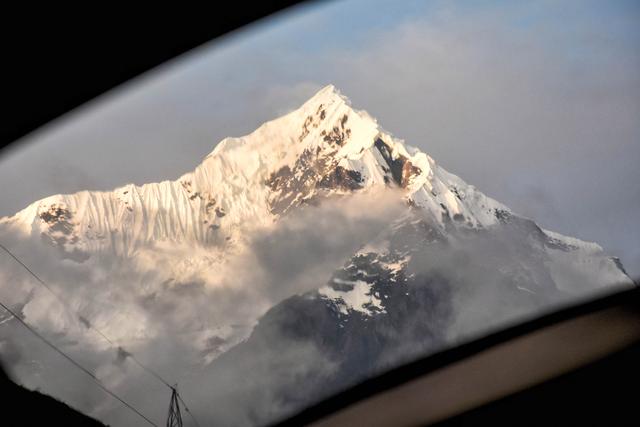
[[[140,263],[136,255],[62,260],[39,238],[4,232],[3,244],[50,289],[3,256],[0,300],[157,423],[166,416],[170,391],[155,373],[178,384],[200,422],[253,425],[295,412],[362,375],[615,289],[597,289],[594,278],[581,281],[579,293],[561,292],[549,274],[543,241],[531,234],[535,227],[527,220],[488,230],[439,231],[430,215],[412,210],[396,189],[303,205],[252,233],[240,250],[228,253],[226,263],[198,270],[189,281],[167,279],[162,262]],[[411,225],[416,221],[426,228]],[[353,331],[376,346],[347,352],[342,360],[331,336],[313,324],[292,338],[287,328],[308,320],[262,317],[281,301],[328,283],[367,244],[385,241],[390,254],[409,247],[411,257],[404,279],[376,282],[371,290],[393,293],[384,301],[387,314]],[[166,255],[162,247],[139,251],[156,259]],[[185,254],[174,248],[169,255],[178,253]],[[199,251],[194,246],[186,253],[193,260]],[[317,301],[314,307],[324,306]],[[358,358],[362,352],[367,360]],[[6,313],[0,319],[0,358],[20,383],[104,422],[140,421]],[[362,367],[352,370],[353,363]]]

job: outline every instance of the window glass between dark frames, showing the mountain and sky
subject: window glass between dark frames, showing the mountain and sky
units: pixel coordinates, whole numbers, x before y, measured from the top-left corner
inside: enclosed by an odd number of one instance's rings
[[[632,287],[639,18],[348,0],[236,31],[2,153],[0,301],[156,424],[177,383],[200,425],[265,425]],[[141,421],[7,311],[0,357]]]

